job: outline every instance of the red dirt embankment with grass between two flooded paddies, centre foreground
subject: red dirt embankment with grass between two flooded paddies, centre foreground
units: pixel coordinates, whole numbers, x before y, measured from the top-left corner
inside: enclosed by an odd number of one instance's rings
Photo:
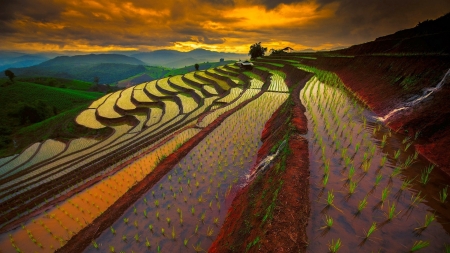
[[[299,252],[307,246],[309,161],[308,143],[301,136],[307,121],[299,93],[311,74],[298,69],[288,73],[293,92],[266,123],[256,164],[284,141],[285,146],[237,193],[209,252]]]

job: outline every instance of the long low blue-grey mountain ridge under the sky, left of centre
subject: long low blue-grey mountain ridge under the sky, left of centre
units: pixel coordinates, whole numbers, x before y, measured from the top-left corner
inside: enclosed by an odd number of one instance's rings
[[[54,59],[41,63],[41,67],[60,66],[60,65],[86,65],[100,63],[118,63],[131,65],[145,65],[144,62],[121,54],[88,54],[74,56],[58,56]]]

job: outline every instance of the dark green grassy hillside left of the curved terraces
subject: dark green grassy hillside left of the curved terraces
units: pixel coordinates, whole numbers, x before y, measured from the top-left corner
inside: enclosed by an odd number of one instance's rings
[[[76,84],[73,81],[71,85]],[[0,110],[0,156],[18,153],[28,145],[49,136],[64,138],[76,136],[77,132],[86,134],[81,128],[75,130],[73,118],[91,101],[101,96],[102,93],[45,86],[20,79],[13,84],[5,78],[0,79],[0,100],[3,105]],[[72,127],[61,127],[61,120]],[[40,122],[43,121],[50,123],[42,125]],[[41,134],[37,134],[38,132]]]

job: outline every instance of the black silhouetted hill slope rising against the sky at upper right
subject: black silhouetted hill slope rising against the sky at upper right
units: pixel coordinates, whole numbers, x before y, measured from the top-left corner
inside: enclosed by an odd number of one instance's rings
[[[375,41],[335,51],[340,54],[450,54],[450,13]]]

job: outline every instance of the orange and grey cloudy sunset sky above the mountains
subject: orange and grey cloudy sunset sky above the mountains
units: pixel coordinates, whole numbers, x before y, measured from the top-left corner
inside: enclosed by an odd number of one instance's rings
[[[450,0],[0,0],[0,50],[347,47],[450,12]]]

